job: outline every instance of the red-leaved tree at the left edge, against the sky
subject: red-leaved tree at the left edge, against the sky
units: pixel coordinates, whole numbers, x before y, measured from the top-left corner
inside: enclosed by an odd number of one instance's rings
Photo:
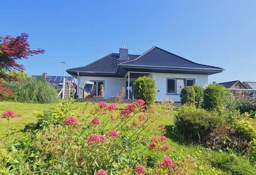
[[[31,50],[28,36],[26,33],[22,33],[16,38],[0,36],[0,70],[24,70],[24,65],[18,64],[18,60],[45,52],[43,49]],[[0,77],[6,77],[3,71],[0,71]]]

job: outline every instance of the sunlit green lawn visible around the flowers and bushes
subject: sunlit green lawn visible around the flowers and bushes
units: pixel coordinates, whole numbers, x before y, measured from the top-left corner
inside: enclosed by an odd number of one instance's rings
[[[51,104],[32,104],[32,103],[19,103],[19,102],[0,102],[0,113],[6,110],[12,110],[20,115],[19,118],[10,120],[9,128],[12,133],[22,132],[25,124],[36,122],[34,112],[43,112],[58,105],[57,103]],[[74,107],[77,107],[77,113],[81,113],[82,109],[86,107],[84,114],[88,113],[93,105],[91,103],[75,102]],[[125,104],[118,105],[119,108],[124,107]],[[159,135],[158,126],[165,124],[168,132],[168,143],[172,145],[172,153],[181,158],[191,158],[193,160],[193,171],[198,174],[254,174],[256,169],[248,163],[245,158],[231,153],[214,152],[207,150],[199,145],[188,144],[186,140],[176,137],[172,133],[173,126],[173,113],[165,113],[159,106],[155,106],[155,110],[160,115],[160,118],[152,123],[146,130],[144,135],[147,137]],[[4,144],[7,139],[7,120],[0,119],[0,143]]]

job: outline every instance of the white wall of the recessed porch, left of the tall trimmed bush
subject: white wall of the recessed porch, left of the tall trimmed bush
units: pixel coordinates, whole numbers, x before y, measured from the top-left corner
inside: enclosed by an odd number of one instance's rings
[[[104,81],[104,98],[109,99],[111,96],[120,94],[122,87],[126,86],[126,81],[128,78],[118,78],[118,77],[102,77],[102,76],[79,76],[80,83],[83,84],[85,81],[100,80]],[[135,78],[130,78],[130,82],[135,81]],[[83,98],[83,90],[79,89],[79,98]]]

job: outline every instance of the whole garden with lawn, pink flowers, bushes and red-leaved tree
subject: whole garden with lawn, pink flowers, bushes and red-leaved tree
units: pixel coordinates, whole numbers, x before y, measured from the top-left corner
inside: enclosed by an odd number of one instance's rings
[[[13,70],[44,52],[27,38],[0,38],[0,174],[256,174],[256,97],[193,85],[174,107],[154,103],[154,80],[140,77],[131,104],[79,102],[74,91],[60,100],[43,78]]]

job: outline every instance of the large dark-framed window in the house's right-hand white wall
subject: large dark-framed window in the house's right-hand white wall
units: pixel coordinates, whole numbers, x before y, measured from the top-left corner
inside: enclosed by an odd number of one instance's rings
[[[195,79],[167,78],[166,93],[181,94],[181,91],[185,86],[192,86],[194,84],[195,84]]]

